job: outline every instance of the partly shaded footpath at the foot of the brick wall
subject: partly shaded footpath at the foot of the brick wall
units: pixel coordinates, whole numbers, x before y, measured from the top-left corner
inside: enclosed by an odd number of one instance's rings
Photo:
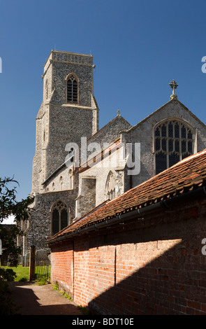
[[[71,300],[53,290],[51,284],[10,283],[11,297],[20,315],[82,315]]]

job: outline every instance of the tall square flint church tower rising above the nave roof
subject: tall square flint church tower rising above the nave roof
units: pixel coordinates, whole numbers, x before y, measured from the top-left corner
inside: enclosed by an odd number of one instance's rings
[[[98,106],[94,99],[93,57],[52,50],[44,66],[43,102],[36,118],[36,154],[32,193],[66,158],[68,143],[98,131]]]

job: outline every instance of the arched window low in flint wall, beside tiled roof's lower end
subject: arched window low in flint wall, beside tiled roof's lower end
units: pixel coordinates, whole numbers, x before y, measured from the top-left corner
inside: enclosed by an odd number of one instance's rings
[[[68,209],[61,200],[52,207],[52,235],[66,228],[69,223]]]

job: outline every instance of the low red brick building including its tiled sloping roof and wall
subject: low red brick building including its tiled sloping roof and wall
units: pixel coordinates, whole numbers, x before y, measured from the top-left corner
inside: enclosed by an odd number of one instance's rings
[[[52,283],[100,314],[206,314],[206,150],[48,239]]]

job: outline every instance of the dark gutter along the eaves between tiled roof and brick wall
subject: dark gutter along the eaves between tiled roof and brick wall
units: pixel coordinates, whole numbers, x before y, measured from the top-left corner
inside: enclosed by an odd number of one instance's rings
[[[54,241],[51,241],[50,243],[52,244],[53,242],[61,241],[63,239],[66,239],[67,237],[82,235],[84,233],[90,232],[91,230],[98,230],[99,228],[103,228],[107,225],[114,225],[116,223],[121,224],[124,222],[124,220],[129,220],[133,218],[137,218],[138,220],[142,218],[142,216],[145,216],[146,214],[149,214],[149,212],[152,212],[156,209],[161,208],[167,210],[170,209],[170,207],[175,206],[175,204],[179,202],[184,202],[185,200],[190,200],[190,199],[195,200],[200,197],[206,197],[206,187],[198,188],[197,190],[192,190],[190,192],[184,193],[183,195],[177,195],[176,197],[172,197],[168,200],[162,200],[160,202],[157,202],[156,204],[151,204],[145,208],[130,211],[126,214],[116,216],[115,218],[112,218],[110,220],[105,220],[101,223],[94,223],[94,225],[91,225],[87,228],[82,228],[82,230],[71,232],[68,235],[64,235],[62,237],[56,237]]]

